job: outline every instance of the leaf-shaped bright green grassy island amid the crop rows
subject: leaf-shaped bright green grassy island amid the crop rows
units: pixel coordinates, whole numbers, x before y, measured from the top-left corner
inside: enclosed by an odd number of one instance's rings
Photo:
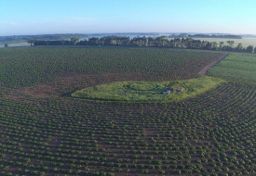
[[[181,101],[209,91],[221,82],[221,79],[207,76],[176,82],[112,82],[78,90],[72,97],[128,102]],[[184,88],[184,91],[163,94],[166,89],[177,87]]]

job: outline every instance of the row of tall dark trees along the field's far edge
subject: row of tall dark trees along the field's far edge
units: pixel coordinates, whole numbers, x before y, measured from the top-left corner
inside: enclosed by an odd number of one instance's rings
[[[243,47],[242,44],[234,45],[234,41],[227,42],[208,42],[196,40],[190,37],[187,38],[173,38],[168,39],[167,36],[161,37],[129,37],[120,36],[104,36],[104,37],[91,37],[85,40],[72,38],[70,41],[44,41],[29,39],[29,44],[34,45],[98,45],[98,46],[142,46],[142,47],[168,47],[168,48],[186,48],[186,49],[204,49],[204,50],[221,50],[221,51],[236,51],[256,53],[256,47],[252,45]]]

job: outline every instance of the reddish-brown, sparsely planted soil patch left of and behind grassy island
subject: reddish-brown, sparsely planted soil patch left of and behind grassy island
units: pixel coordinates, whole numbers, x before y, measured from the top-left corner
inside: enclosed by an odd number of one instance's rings
[[[20,89],[7,90],[11,94],[6,94],[7,98],[25,101],[25,97],[32,98],[50,98],[61,97],[65,94],[73,93],[78,89],[107,83],[107,82],[124,82],[127,80],[141,81],[143,77],[137,73],[101,73],[101,74],[84,74],[84,73],[58,73],[55,82],[39,83],[35,86]]]

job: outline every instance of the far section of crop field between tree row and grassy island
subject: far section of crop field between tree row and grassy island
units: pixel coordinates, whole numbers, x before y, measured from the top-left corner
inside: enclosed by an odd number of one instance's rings
[[[32,86],[51,82],[62,73],[134,73],[133,79],[138,81],[189,79],[223,56],[152,48],[3,48],[0,50],[0,86]]]

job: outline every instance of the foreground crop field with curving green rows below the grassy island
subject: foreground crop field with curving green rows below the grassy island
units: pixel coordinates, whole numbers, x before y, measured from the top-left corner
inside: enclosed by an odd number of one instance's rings
[[[254,174],[255,101],[234,82],[168,104],[2,96],[1,174]]]

